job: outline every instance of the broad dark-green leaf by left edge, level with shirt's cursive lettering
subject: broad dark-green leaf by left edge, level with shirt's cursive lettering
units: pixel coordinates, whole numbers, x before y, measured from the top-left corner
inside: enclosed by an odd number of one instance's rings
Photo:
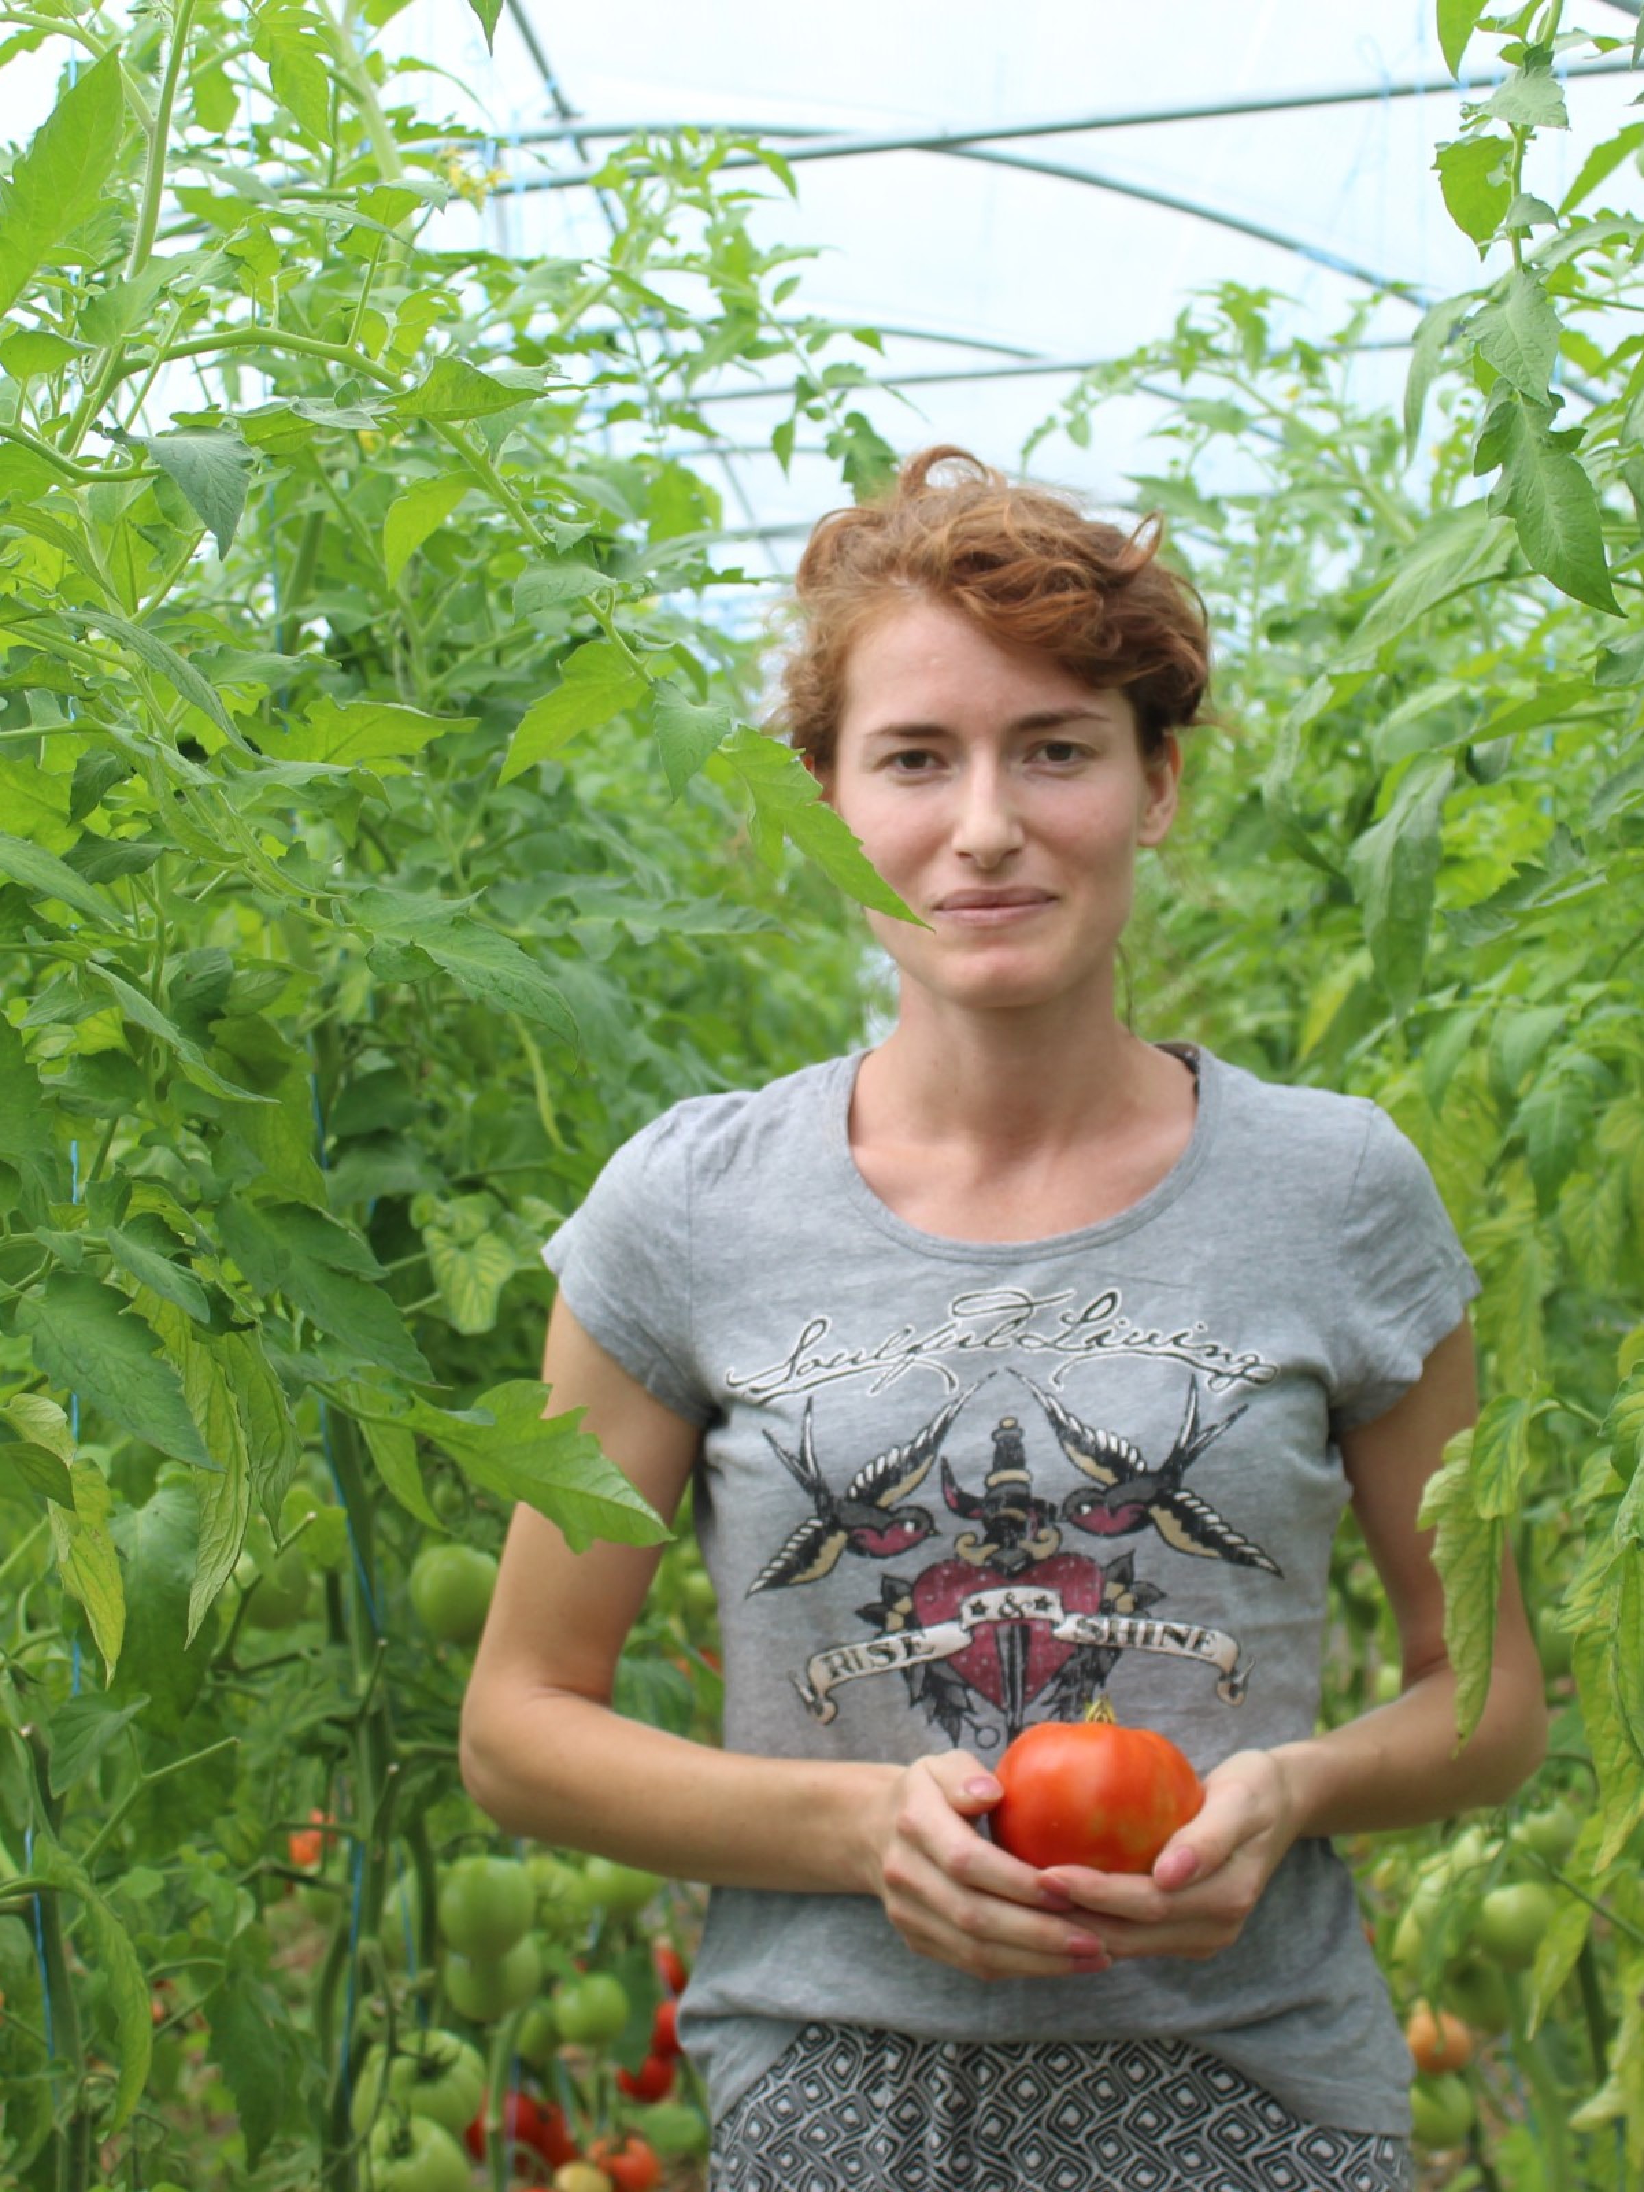
[[[18,1304],[18,1328],[53,1385],[90,1401],[112,1425],[160,1453],[210,1469],[178,1372],[123,1293],[75,1271],[53,1271]]]

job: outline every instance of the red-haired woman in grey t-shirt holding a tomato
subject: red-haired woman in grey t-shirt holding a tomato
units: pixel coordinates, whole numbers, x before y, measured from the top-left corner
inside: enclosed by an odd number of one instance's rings
[[[662,1515],[695,1473],[726,1747],[618,1719],[658,1554],[522,1508],[465,1710],[515,1833],[710,1881],[719,2192],[1409,2177],[1409,2060],[1328,1839],[1543,1745],[1510,1574],[1455,1756],[1423,1484],[1477,1291],[1372,1105],[1138,1039],[1116,958],[1201,706],[1197,596],[964,452],[824,520],[785,728],[916,923],[890,1037],[677,1105],[546,1249],[544,1379]],[[1315,1734],[1346,1502],[1403,1694]],[[1107,1692],[1206,1782],[1151,1876],[978,1828]]]

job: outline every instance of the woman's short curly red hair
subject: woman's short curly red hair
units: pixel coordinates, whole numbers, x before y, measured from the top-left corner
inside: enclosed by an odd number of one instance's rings
[[[1151,761],[1168,732],[1199,721],[1210,686],[1203,603],[1157,561],[1160,535],[1157,517],[1122,533],[1070,495],[1006,480],[969,449],[921,449],[890,493],[831,511],[811,533],[776,728],[826,769],[850,649],[899,596],[916,594],[960,609],[1000,647],[1122,690]]]

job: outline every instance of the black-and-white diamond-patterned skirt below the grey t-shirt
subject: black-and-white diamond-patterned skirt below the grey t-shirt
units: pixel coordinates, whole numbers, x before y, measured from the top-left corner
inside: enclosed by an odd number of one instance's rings
[[[1403,2139],[1304,2124],[1181,2041],[807,2025],[715,2133],[710,2192],[1409,2192]]]

